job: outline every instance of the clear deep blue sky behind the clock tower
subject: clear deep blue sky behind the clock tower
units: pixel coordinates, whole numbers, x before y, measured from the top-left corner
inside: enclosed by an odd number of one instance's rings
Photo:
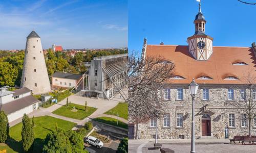
[[[256,5],[202,0],[201,6],[207,21],[205,33],[214,38],[214,46],[251,46],[256,41]],[[129,0],[128,9],[130,52],[141,52],[143,38],[148,44],[187,45],[187,37],[195,33],[196,0]]]

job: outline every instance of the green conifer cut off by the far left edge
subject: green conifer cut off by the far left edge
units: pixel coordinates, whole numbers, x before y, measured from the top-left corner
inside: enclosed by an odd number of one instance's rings
[[[4,111],[0,111],[0,143],[5,143],[9,136],[8,117]]]

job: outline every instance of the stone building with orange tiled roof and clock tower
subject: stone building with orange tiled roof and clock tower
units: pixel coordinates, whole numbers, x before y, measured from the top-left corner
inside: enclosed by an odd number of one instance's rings
[[[256,72],[256,46],[213,46],[214,39],[206,35],[206,20],[199,7],[194,20],[195,34],[187,38],[188,45],[147,44],[144,40],[142,58],[163,56],[176,66],[174,77],[165,83],[166,114],[158,119],[159,139],[191,138],[191,95],[188,84],[195,79],[200,85],[195,97],[195,136],[229,138],[248,135],[246,114],[233,103],[243,103],[248,74]],[[255,92],[254,92],[255,91]],[[253,90],[256,99],[256,90]],[[256,114],[255,114],[256,115]],[[138,130],[136,130],[138,129]],[[129,138],[156,137],[156,119],[129,125]],[[256,117],[252,120],[251,135],[256,135]]]

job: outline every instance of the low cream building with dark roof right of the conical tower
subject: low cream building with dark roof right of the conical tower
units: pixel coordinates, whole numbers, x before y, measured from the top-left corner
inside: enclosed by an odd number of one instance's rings
[[[55,72],[52,74],[53,88],[72,88],[82,79],[82,74]]]

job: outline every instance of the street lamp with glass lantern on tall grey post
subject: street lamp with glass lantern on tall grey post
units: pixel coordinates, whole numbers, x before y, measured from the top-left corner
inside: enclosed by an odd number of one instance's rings
[[[189,93],[192,97],[192,123],[191,123],[191,151],[190,153],[195,153],[195,95],[197,94],[199,85],[193,81],[188,85]]]

